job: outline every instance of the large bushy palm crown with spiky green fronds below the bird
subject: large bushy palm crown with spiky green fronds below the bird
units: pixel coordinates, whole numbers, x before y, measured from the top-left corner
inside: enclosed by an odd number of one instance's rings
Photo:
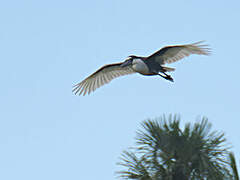
[[[124,151],[120,177],[137,180],[231,179],[224,134],[210,131],[207,118],[180,128],[179,116],[142,123],[136,147]]]

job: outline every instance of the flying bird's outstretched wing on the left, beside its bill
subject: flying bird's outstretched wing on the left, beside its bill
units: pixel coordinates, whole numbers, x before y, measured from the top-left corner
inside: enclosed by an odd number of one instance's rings
[[[97,88],[109,83],[114,78],[119,76],[135,73],[129,66],[120,67],[122,63],[108,64],[101,67],[92,75],[88,76],[82,82],[73,86],[74,94],[86,95],[95,91]]]

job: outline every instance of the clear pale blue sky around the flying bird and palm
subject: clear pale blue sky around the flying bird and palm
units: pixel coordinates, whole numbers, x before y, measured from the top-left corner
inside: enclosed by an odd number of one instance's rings
[[[207,116],[240,159],[240,1],[1,1],[0,179],[112,180],[140,122]],[[104,64],[206,40],[175,82],[129,75],[90,96],[72,85]]]

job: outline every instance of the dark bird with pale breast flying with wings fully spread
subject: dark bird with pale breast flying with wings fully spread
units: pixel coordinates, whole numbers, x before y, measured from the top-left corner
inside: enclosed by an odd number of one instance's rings
[[[148,57],[128,56],[124,62],[101,67],[82,82],[74,85],[72,91],[76,95],[84,96],[109,83],[114,78],[133,73],[145,76],[158,75],[173,82],[173,78],[167,72],[175,69],[163,65],[174,63],[191,54],[209,55],[208,45],[202,43],[203,41],[199,41],[193,44],[166,46]]]

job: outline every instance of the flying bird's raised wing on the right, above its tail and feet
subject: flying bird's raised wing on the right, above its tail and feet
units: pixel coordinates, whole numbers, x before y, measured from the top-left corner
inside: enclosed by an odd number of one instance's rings
[[[170,64],[191,54],[209,55],[210,49],[208,45],[199,41],[193,44],[167,46],[155,52],[147,58],[148,61],[155,61],[159,64]]]

